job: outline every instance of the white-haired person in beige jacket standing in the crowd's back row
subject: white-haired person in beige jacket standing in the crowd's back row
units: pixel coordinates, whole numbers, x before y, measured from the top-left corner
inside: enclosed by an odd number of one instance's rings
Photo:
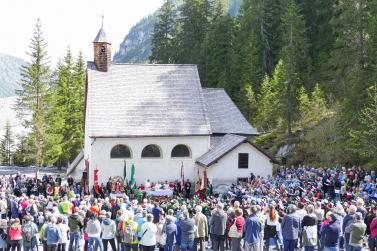
[[[206,249],[205,240],[208,237],[208,221],[207,217],[202,213],[201,206],[196,206],[195,212],[194,221],[197,227],[197,231],[195,232],[194,250],[198,250],[199,244],[200,251],[204,251]]]

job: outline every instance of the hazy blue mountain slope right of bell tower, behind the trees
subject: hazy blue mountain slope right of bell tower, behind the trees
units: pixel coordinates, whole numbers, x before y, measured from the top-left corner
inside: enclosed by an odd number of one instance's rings
[[[225,0],[229,2],[228,12],[235,16],[238,14],[242,0]],[[174,5],[180,6],[182,0],[174,0]],[[118,52],[114,54],[113,60],[117,63],[145,63],[148,61],[152,49],[153,28],[158,18],[158,11],[143,18],[125,36],[119,46]]]

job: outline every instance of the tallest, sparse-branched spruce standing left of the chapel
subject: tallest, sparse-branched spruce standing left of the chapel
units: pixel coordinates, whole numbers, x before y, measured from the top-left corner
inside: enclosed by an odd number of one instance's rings
[[[39,168],[43,165],[46,129],[46,93],[49,86],[49,65],[43,38],[41,23],[38,19],[30,42],[30,62],[21,69],[21,90],[17,91],[17,111],[29,129],[30,155],[33,164]],[[27,115],[30,116],[27,116]]]

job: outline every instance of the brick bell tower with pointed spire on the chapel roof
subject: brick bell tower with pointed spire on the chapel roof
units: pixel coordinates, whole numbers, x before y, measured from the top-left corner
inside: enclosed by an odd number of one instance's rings
[[[93,41],[94,64],[98,71],[107,71],[111,64],[111,43],[107,41],[105,30],[103,29],[103,16],[101,29],[98,31]]]

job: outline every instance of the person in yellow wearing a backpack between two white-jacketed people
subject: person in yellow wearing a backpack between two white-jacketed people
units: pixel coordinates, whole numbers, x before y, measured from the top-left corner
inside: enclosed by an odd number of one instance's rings
[[[137,238],[137,223],[132,219],[131,215],[122,222],[120,228],[120,236],[122,241],[122,249],[124,251],[138,251],[139,240]]]

